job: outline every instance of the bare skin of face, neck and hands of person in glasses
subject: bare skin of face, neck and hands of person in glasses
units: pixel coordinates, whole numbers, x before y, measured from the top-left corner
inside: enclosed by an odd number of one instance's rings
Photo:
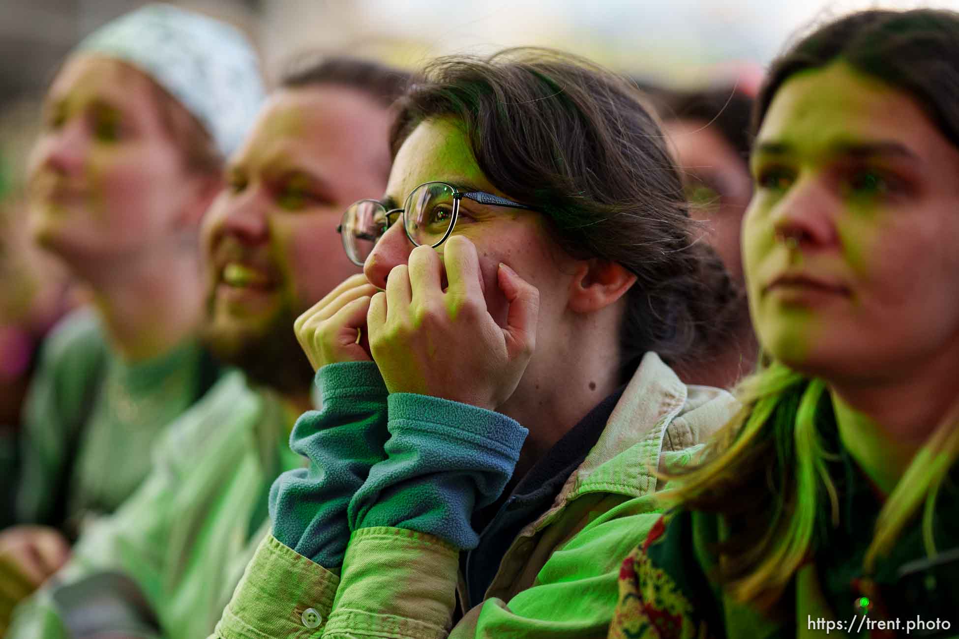
[[[509,198],[479,171],[452,119],[413,129],[381,201],[387,209],[402,206],[433,180]],[[327,313],[325,319],[301,317],[300,342],[310,345],[315,365],[331,361],[324,353],[365,359],[348,348],[360,329],[370,334],[391,391],[467,401],[522,423],[530,431],[514,473],[522,476],[619,385],[622,295],[636,280],[620,264],[565,255],[547,223],[534,211],[463,199],[451,240],[429,249],[435,259],[427,247],[414,251],[394,223],[364,266],[369,283],[384,292],[367,300],[368,291],[344,291],[327,301],[329,308],[317,305],[310,312]],[[339,343],[322,347],[322,334]]]

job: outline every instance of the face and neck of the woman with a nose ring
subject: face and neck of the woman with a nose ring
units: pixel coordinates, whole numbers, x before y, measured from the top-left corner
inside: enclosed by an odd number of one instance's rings
[[[743,261],[763,347],[827,379],[843,442],[889,490],[959,396],[959,149],[842,62],[776,93]]]

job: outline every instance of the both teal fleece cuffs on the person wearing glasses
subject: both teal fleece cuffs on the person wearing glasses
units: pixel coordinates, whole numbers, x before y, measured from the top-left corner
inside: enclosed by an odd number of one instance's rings
[[[449,399],[387,398],[374,362],[329,364],[316,384],[322,408],[301,416],[290,438],[310,466],[270,489],[273,536],[331,567],[342,565],[353,531],[378,526],[475,548],[470,517],[503,492],[526,428]]]

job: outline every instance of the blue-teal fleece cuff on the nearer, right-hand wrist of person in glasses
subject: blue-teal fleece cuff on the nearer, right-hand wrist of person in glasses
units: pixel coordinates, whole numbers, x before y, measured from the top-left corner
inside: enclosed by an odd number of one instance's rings
[[[387,457],[350,500],[351,529],[405,528],[475,548],[473,510],[503,492],[529,431],[449,399],[394,393],[387,403]]]

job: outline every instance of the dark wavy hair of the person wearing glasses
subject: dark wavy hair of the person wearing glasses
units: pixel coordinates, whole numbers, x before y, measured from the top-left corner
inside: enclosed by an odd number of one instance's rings
[[[400,99],[393,154],[425,120],[465,126],[479,169],[548,219],[569,255],[619,262],[626,294],[620,364],[646,351],[709,357],[737,319],[737,290],[690,220],[679,171],[635,85],[567,54],[507,49],[440,57]]]

